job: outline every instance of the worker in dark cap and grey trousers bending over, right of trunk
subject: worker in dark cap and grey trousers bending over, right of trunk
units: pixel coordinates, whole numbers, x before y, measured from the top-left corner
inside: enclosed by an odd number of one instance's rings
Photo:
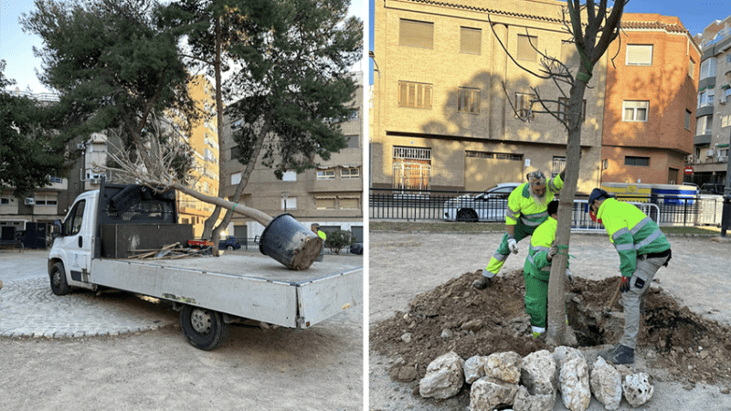
[[[652,279],[672,257],[670,242],[652,218],[634,205],[617,201],[604,190],[592,190],[588,205],[604,224],[609,241],[620,254],[622,274],[620,291],[624,333],[619,345],[599,355],[614,364],[633,364],[640,315],[644,311]]]

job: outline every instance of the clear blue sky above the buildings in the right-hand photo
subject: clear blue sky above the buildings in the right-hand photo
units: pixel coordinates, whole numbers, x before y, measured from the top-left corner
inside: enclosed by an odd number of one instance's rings
[[[459,2],[459,0],[454,0]],[[487,1],[485,2],[488,3]],[[583,3],[583,2],[582,2]],[[609,2],[610,5],[613,2]],[[374,0],[368,0],[368,10],[373,10]],[[625,13],[655,13],[662,16],[677,16],[691,36],[702,33],[715,20],[723,20],[731,13],[731,0],[695,3],[689,0],[630,0],[624,6]],[[369,14],[370,38],[368,49],[373,50],[373,13]],[[376,61],[377,61],[376,56]],[[370,84],[373,84],[373,60],[369,59]]]

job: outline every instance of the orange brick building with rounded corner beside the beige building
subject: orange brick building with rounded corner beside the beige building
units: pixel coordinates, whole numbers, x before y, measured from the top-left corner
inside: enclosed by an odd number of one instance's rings
[[[694,152],[700,48],[678,17],[626,13],[607,55],[602,181],[682,184]]]

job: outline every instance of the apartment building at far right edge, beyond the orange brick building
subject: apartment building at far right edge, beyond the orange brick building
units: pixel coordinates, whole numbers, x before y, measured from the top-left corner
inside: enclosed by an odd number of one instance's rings
[[[694,37],[703,54],[697,88],[694,151],[688,165],[695,184],[726,183],[731,139],[731,16]]]

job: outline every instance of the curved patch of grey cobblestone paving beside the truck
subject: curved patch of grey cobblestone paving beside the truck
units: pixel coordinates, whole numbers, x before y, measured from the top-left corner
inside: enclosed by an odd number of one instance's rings
[[[178,322],[166,301],[117,292],[53,294],[48,277],[5,282],[0,290],[3,337],[76,338],[143,332]]]

